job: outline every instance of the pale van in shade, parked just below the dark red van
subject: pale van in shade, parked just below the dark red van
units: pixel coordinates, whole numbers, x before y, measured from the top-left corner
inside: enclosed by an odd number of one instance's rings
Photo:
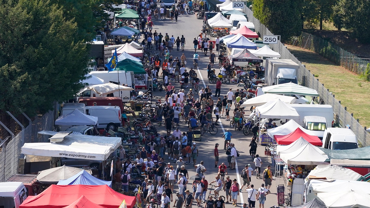
[[[88,115],[98,117],[98,128],[117,130],[121,126],[121,108],[119,106],[86,106]]]

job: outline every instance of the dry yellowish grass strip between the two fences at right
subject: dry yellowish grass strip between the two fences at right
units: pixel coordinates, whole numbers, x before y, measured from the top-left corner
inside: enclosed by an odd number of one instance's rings
[[[315,77],[318,75],[320,83],[335,94],[362,126],[370,127],[370,82],[312,51],[290,45],[287,48]]]

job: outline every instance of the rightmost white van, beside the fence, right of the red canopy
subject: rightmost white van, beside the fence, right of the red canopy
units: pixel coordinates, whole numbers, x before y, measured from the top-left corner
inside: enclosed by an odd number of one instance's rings
[[[351,150],[358,148],[356,135],[349,128],[327,128],[323,136],[323,148]]]

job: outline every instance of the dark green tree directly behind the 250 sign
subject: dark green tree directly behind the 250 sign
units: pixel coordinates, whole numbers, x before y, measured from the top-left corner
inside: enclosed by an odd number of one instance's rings
[[[253,15],[282,41],[297,35],[302,27],[302,1],[254,0]]]

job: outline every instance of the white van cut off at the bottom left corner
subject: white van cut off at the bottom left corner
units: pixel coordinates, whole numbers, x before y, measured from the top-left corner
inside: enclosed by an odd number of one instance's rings
[[[0,182],[1,208],[19,208],[27,197],[28,192],[22,182]]]

